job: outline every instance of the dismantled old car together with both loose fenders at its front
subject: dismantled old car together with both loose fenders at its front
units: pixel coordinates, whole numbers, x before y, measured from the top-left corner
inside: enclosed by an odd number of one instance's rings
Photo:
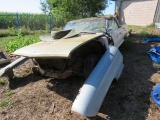
[[[85,76],[86,81],[75,99],[72,111],[95,116],[113,79],[123,70],[123,56],[118,48],[129,35],[114,17],[74,20],[64,30],[52,31],[51,38],[20,48],[13,54],[22,56],[0,70],[0,76],[28,58],[33,60],[33,74],[57,79],[71,75]]]

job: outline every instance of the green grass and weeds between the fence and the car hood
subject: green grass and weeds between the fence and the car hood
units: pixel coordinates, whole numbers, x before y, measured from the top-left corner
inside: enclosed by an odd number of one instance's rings
[[[53,31],[58,31],[61,29],[62,28],[55,27],[53,28]],[[6,35],[2,36],[8,36],[8,37],[1,37],[1,33],[3,33],[4,31],[6,31],[5,33]],[[30,31],[25,29],[18,31],[12,28],[7,30],[0,30],[0,51],[13,52],[21,47],[33,44],[35,42],[39,42],[40,41],[39,36],[43,34],[48,34],[48,32],[45,32],[43,30]]]

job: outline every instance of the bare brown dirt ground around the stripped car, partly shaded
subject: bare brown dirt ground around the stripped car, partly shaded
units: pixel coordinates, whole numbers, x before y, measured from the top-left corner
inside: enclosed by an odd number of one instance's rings
[[[70,110],[84,78],[35,77],[27,61],[14,69],[16,78],[10,86],[2,78],[6,83],[0,84],[0,102],[9,102],[1,105],[0,120],[159,120],[160,107],[151,99],[151,92],[160,83],[160,66],[146,53],[158,44],[141,43],[142,38],[135,34],[128,40],[121,48],[123,73],[110,87],[97,116],[82,117]]]

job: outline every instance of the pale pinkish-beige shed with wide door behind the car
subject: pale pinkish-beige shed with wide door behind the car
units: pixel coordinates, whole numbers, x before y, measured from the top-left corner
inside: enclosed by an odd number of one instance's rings
[[[160,22],[160,0],[123,0],[119,10],[120,24],[147,26]]]

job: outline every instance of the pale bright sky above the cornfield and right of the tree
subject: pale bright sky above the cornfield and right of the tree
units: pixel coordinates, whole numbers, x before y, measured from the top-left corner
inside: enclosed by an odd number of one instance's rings
[[[0,0],[0,12],[43,13],[40,8],[40,0]],[[103,13],[113,14],[114,2]]]

